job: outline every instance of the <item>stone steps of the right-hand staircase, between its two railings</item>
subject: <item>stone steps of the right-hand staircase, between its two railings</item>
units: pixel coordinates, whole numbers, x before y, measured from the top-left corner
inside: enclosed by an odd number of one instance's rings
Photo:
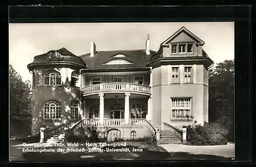
[[[170,143],[182,144],[179,137],[177,137],[176,135],[174,135],[173,133],[171,133],[169,131],[161,130],[160,131],[160,144],[170,144]]]

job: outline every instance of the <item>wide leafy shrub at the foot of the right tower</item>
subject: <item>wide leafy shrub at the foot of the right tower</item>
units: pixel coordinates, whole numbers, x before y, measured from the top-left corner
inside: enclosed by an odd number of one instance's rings
[[[190,145],[226,145],[228,130],[217,123],[193,124],[186,126],[187,142]]]

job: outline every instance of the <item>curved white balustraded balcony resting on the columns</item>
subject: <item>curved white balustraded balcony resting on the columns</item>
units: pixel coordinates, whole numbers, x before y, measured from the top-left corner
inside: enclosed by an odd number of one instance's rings
[[[135,94],[151,95],[151,87],[136,84],[112,83],[112,84],[96,84],[81,89],[83,96],[89,96],[102,93],[122,93],[131,92]]]

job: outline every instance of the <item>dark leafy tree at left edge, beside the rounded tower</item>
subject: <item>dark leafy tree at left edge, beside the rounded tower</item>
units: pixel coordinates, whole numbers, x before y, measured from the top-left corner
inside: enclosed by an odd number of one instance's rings
[[[10,133],[13,134],[31,125],[32,92],[31,82],[9,65],[10,76]],[[15,132],[14,132],[15,131]]]

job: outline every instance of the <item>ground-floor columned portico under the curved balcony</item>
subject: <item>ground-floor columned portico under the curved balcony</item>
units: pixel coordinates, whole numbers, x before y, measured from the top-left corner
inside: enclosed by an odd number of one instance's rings
[[[147,119],[152,116],[150,96],[125,93],[99,93],[83,97],[83,119],[98,121],[119,121],[118,125],[129,125],[131,120]]]

